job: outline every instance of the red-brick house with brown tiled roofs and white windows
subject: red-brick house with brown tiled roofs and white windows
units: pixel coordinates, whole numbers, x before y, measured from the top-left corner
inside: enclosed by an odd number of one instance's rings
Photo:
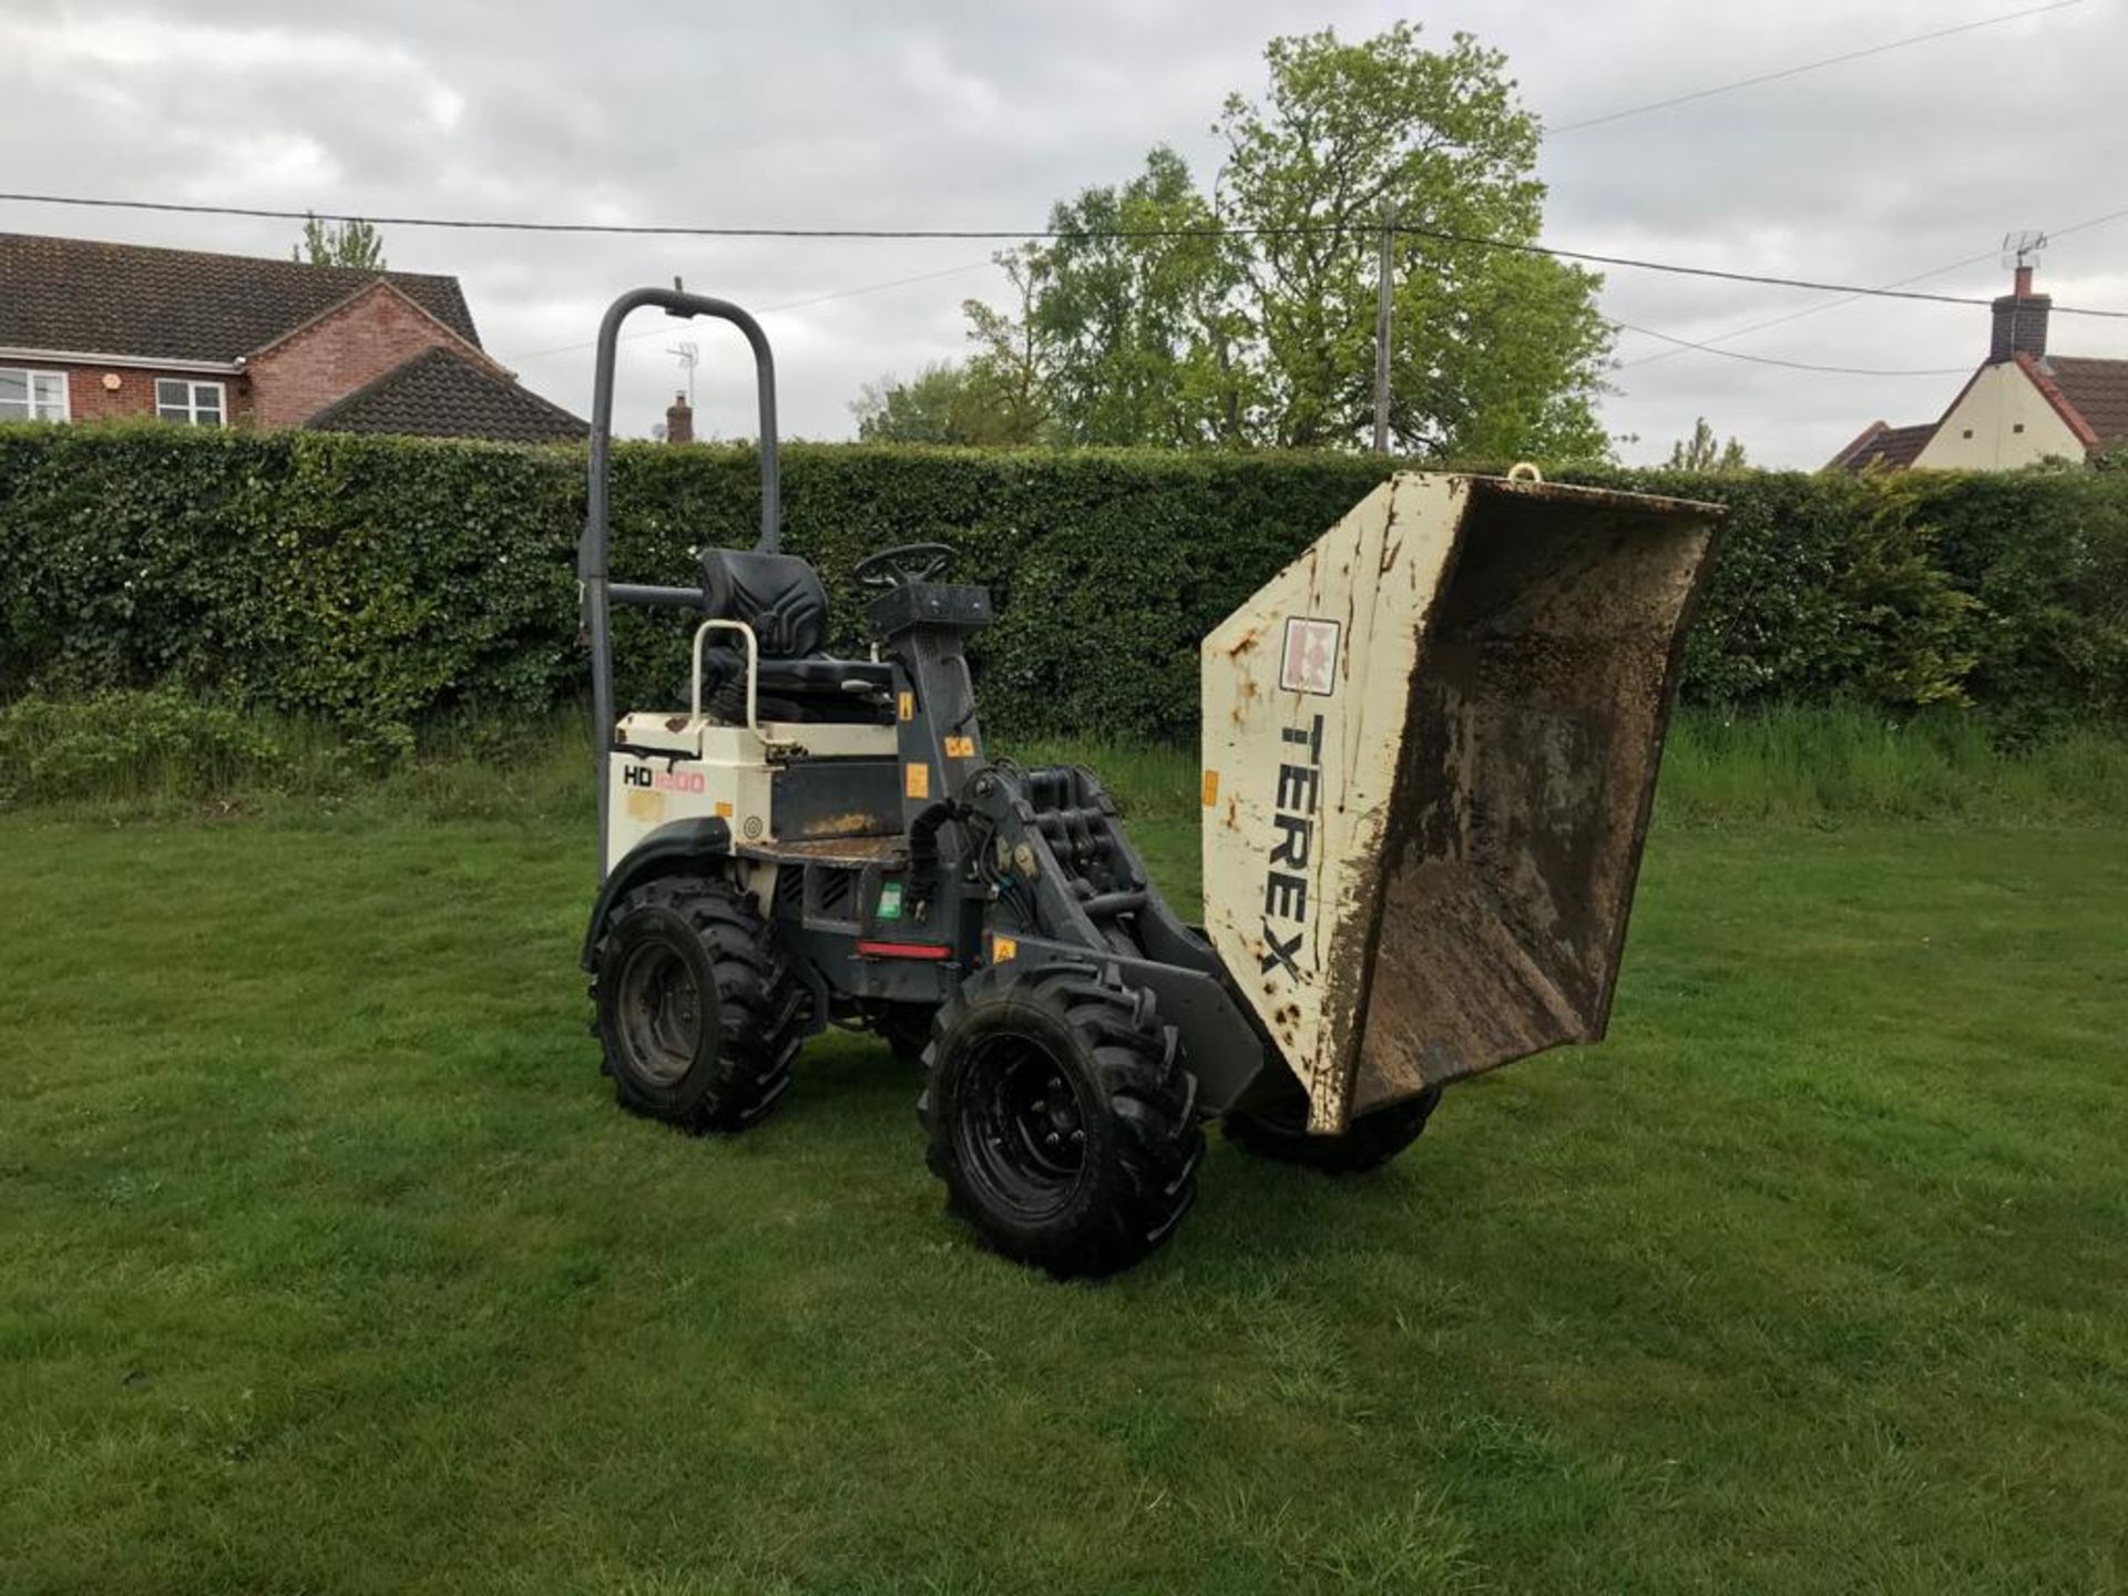
[[[560,443],[455,277],[0,234],[0,421],[162,417]]]

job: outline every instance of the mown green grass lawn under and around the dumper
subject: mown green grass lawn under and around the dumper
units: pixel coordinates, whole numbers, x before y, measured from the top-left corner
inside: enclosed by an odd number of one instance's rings
[[[1138,828],[1194,892],[1194,828]],[[1613,1038],[1102,1285],[613,1109],[585,828],[0,817],[4,1592],[2117,1592],[2128,826],[1668,821]]]

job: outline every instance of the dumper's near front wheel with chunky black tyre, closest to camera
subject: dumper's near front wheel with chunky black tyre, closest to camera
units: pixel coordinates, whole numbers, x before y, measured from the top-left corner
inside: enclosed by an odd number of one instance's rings
[[[1196,1079],[1153,994],[1113,972],[992,966],[938,1013],[917,1104],[932,1175],[977,1238],[1051,1275],[1111,1275],[1196,1200]]]

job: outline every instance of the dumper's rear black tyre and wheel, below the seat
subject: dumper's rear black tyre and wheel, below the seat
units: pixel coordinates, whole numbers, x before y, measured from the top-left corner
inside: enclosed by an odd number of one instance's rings
[[[789,1087],[798,990],[747,896],[666,877],[598,941],[592,1000],[621,1107],[683,1130],[745,1130]]]

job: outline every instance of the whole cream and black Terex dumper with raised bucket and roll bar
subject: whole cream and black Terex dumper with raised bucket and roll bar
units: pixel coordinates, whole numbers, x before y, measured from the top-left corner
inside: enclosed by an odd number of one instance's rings
[[[762,532],[700,585],[606,575],[621,321],[753,349]],[[983,747],[990,594],[881,549],[866,658],[781,553],[775,364],[734,304],[636,289],[598,336],[579,549],[600,887],[583,941],[621,1104],[736,1132],[830,1024],[919,1062],[947,1207],[1104,1275],[1187,1213],[1204,1126],[1321,1170],[1400,1153],[1445,1085],[1609,1019],[1685,619],[1717,511],[1398,475],[1202,645],[1204,926],[1083,766]],[[611,606],[687,615],[687,709],[615,715]]]

